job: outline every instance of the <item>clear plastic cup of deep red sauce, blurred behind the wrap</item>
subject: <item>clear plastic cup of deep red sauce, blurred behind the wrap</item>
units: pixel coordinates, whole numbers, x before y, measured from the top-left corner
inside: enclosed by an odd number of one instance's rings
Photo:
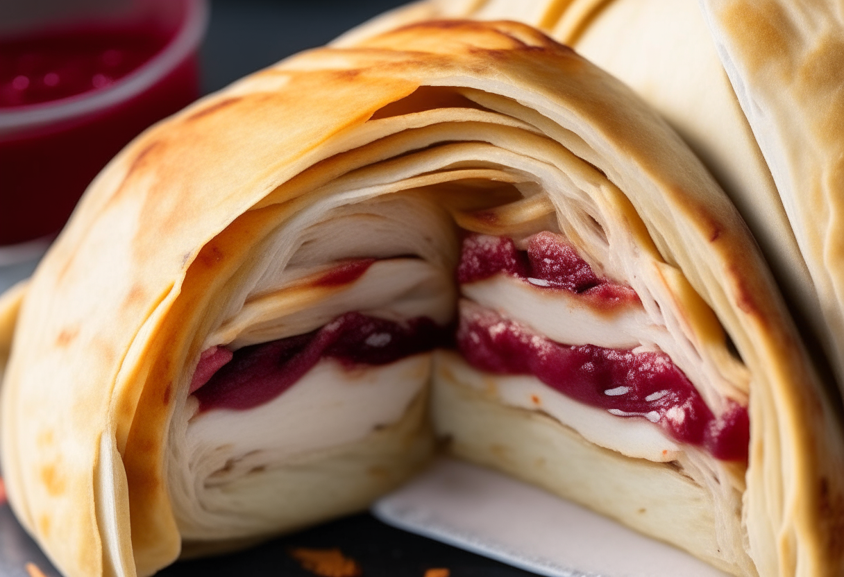
[[[41,250],[112,156],[199,95],[205,0],[54,4],[0,30],[0,266]]]

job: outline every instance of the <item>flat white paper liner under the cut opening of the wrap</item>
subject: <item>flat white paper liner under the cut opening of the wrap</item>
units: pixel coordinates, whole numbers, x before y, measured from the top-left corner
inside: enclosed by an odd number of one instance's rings
[[[387,525],[550,577],[728,577],[542,489],[453,459],[436,461],[372,513]]]

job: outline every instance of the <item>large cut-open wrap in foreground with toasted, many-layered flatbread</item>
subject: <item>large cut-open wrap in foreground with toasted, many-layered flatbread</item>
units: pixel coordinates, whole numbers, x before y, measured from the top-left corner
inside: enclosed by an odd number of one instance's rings
[[[381,364],[339,362],[321,349],[297,383],[257,405],[247,395],[245,405],[215,406],[203,393],[225,390],[214,379],[267,350],[262,343],[284,348],[306,337],[296,350],[311,351],[351,322],[347,315],[446,326],[457,300],[452,274],[466,241],[479,238],[519,250],[527,243],[528,252],[553,238],[549,246],[568,246],[586,263],[595,286],[635,292],[630,302],[644,310],[636,318],[661,335],[645,353],[667,354],[663,365],[686,371],[689,394],[711,413],[747,405],[746,461],[666,437],[664,415],[609,412],[620,431],[663,435],[677,458],[630,455],[636,447],[598,442],[589,418],[578,430],[553,412],[484,394],[473,386],[483,371],[457,353],[430,353],[430,343]],[[500,282],[485,305],[460,281],[460,322],[473,307],[518,320],[495,299],[503,283],[535,283],[515,273],[490,278]],[[561,314],[556,299],[567,293],[549,291],[534,311]],[[9,302],[12,317],[19,299]],[[520,330],[537,342],[573,344],[532,318]],[[370,337],[367,346],[383,342],[381,332]],[[11,348],[2,391],[9,499],[68,575],[153,574],[183,542],[222,550],[364,507],[430,455],[423,414],[432,354],[434,422],[455,435],[458,453],[734,574],[842,567],[830,537],[844,514],[840,426],[743,221],[647,105],[522,24],[419,24],[354,48],[306,52],[145,132],[98,176],[35,272]],[[462,350],[471,361],[474,349]],[[384,405],[364,387],[347,395],[344,387],[362,380],[392,382],[383,390],[393,401],[376,412],[386,421],[349,428],[335,417]],[[352,405],[366,400],[331,413],[324,396],[308,396],[309,382]],[[310,400],[285,404],[294,391]],[[277,402],[273,414],[314,411],[302,419],[308,434],[255,432],[254,423],[288,423],[252,413]],[[594,409],[569,406],[581,421]],[[321,414],[331,417],[320,422]],[[505,447],[516,457],[510,465],[536,451],[557,462],[538,472],[495,462],[483,446],[490,423],[537,443]],[[331,438],[339,429],[357,433]],[[560,456],[571,466],[559,466]],[[578,475],[603,486],[628,474],[634,483],[620,497],[639,499],[648,478],[681,485],[698,499],[692,516],[706,529],[683,535],[688,515],[672,511],[686,502],[640,522],[599,502],[607,495],[578,489]],[[701,484],[706,475],[717,482]]]

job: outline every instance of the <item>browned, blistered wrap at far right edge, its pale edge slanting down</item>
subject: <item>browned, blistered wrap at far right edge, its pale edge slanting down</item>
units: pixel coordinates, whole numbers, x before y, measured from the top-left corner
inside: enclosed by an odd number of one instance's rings
[[[844,391],[844,8],[831,0],[701,7],[811,274],[822,314],[814,324]]]

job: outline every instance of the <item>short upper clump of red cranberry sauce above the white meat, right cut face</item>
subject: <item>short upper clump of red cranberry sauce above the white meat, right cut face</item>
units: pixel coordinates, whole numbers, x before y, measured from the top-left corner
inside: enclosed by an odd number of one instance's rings
[[[575,247],[554,233],[533,235],[527,240],[527,251],[519,251],[506,236],[473,235],[463,240],[458,283],[473,283],[500,272],[537,287],[582,294],[605,306],[640,302],[632,288],[598,277]]]

